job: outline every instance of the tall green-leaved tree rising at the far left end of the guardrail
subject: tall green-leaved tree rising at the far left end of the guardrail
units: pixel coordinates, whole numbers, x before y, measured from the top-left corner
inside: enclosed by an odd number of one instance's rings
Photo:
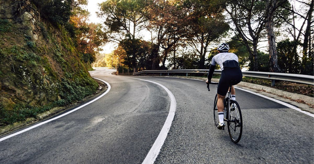
[[[134,72],[137,71],[136,50],[139,42],[137,35],[145,28],[144,8],[144,0],[108,0],[100,4],[100,12],[97,13],[105,20],[110,40],[122,47],[125,46],[128,59],[132,60],[128,61],[128,65],[133,67]]]

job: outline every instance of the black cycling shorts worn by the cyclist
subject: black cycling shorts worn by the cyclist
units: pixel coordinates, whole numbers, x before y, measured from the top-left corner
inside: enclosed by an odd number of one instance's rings
[[[242,71],[240,68],[235,69],[224,69],[221,71],[221,76],[219,79],[217,93],[221,96],[225,96],[228,92],[230,81],[237,81],[236,85],[242,80]]]

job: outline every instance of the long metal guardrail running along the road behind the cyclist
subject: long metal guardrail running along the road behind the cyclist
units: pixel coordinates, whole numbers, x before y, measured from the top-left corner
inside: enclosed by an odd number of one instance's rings
[[[133,73],[133,75],[139,75],[143,73],[208,73],[208,70],[144,70]],[[215,70],[214,74],[221,74],[221,70]],[[242,71],[243,76],[246,77],[257,77],[272,80],[272,86],[275,85],[275,80],[283,80],[289,82],[298,82],[303,84],[314,85],[314,76],[310,75],[299,75],[290,73],[274,73],[274,72],[258,72],[258,71]]]

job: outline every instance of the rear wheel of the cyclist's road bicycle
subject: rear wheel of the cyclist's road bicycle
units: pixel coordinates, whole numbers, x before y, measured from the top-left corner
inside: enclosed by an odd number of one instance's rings
[[[237,143],[240,141],[242,136],[242,114],[239,104],[236,101],[233,101],[234,109],[230,107],[230,117],[227,123],[228,132],[232,142]]]

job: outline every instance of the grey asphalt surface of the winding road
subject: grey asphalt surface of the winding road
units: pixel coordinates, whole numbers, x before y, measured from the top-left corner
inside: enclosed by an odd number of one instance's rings
[[[171,101],[161,86],[133,78],[165,86],[176,100],[155,163],[313,163],[311,116],[236,90],[244,125],[240,142],[234,144],[228,130],[214,127],[214,85],[208,92],[204,81],[110,72],[90,72],[111,85],[97,101],[1,141],[0,163],[142,163],[164,126]]]

